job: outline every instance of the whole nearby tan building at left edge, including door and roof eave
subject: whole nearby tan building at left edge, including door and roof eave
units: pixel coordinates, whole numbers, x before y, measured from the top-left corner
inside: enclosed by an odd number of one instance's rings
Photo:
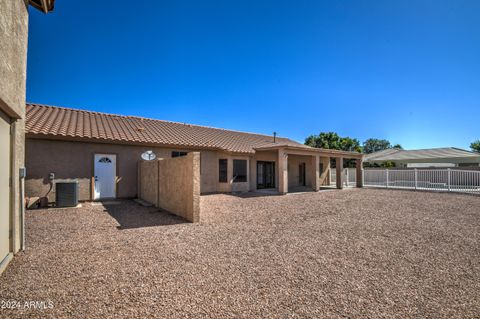
[[[49,12],[54,1],[0,1],[0,272],[23,243],[21,169],[29,3]]]

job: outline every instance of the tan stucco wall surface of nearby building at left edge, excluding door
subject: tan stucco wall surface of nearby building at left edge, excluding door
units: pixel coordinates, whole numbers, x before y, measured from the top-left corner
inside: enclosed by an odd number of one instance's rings
[[[28,42],[28,4],[24,0],[0,1],[0,109],[15,118],[12,124],[12,251],[20,249],[19,169],[24,166],[25,86]],[[2,190],[3,191],[3,190]]]

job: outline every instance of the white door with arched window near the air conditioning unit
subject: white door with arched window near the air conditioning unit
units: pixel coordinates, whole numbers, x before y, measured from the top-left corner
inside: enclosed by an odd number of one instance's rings
[[[115,198],[117,156],[95,154],[95,196],[94,199]]]

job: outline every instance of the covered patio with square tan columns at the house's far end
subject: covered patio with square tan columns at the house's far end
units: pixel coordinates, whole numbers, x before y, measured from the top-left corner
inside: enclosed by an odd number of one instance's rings
[[[336,187],[343,188],[343,164],[346,159],[356,161],[357,187],[363,187],[363,154],[339,150],[296,147],[291,145],[274,145],[255,149],[256,155],[262,152],[276,152],[278,192],[286,194],[297,187],[311,188],[318,191],[330,184],[330,163],[335,159]],[[258,178],[256,175],[255,178]]]

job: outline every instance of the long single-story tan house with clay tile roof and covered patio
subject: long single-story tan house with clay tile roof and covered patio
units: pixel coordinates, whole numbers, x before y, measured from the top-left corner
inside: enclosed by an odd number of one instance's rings
[[[136,197],[147,150],[158,158],[200,151],[202,193],[318,190],[329,184],[331,157],[339,167],[343,158],[361,165],[363,157],[287,138],[38,104],[27,105],[26,136],[27,196],[50,202],[63,179],[79,181],[80,200]]]

